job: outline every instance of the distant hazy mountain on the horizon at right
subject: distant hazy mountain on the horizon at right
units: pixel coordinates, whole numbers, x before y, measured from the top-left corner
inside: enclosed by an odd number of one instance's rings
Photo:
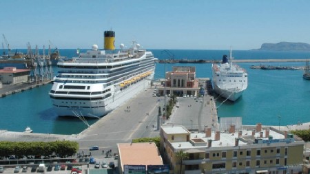
[[[259,49],[261,51],[305,51],[310,52],[310,45],[308,43],[263,43]]]

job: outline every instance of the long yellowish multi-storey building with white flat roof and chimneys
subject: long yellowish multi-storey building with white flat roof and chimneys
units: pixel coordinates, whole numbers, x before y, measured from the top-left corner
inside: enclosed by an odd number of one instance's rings
[[[181,173],[271,173],[302,171],[304,142],[272,127],[191,133],[183,126],[161,127],[161,154],[173,173],[180,173],[179,151],[187,153]]]

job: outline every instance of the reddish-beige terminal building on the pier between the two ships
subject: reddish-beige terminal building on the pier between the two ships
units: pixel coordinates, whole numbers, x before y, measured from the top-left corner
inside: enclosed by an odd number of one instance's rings
[[[172,67],[166,72],[165,85],[157,87],[159,95],[198,96],[199,82],[196,79],[196,67]]]

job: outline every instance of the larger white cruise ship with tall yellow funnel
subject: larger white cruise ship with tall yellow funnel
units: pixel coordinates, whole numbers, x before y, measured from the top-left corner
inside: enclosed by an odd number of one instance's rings
[[[92,50],[70,60],[59,60],[50,98],[58,116],[102,117],[143,91],[154,77],[152,52],[140,49],[114,50],[113,31],[105,31],[104,50]]]

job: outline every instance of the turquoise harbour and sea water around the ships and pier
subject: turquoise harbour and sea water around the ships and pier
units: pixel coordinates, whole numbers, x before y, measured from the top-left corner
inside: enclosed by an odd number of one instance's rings
[[[162,50],[152,50],[157,58],[171,58]],[[170,50],[174,58],[208,58],[220,59],[227,50]],[[75,50],[61,50],[61,56],[74,56]],[[309,58],[310,52],[258,52],[234,51],[233,56],[238,59],[257,58]],[[264,65],[303,66],[304,63],[262,63]],[[303,80],[301,70],[262,70],[250,69],[251,65],[260,63],[239,63],[249,74],[249,86],[242,94],[242,98],[235,103],[225,102],[218,108],[218,116],[242,117],[243,124],[297,124],[310,122],[310,80]],[[197,77],[211,77],[211,64],[166,64],[166,70],[172,66],[196,66]],[[56,67],[54,67],[56,72]],[[156,65],[155,78],[163,78],[164,64]],[[9,131],[23,131],[31,127],[38,133],[79,133],[86,129],[86,125],[78,118],[59,118],[52,109],[52,102],[48,96],[51,84],[34,88],[22,93],[0,98],[1,122],[0,129]],[[220,105],[223,100],[218,100]],[[92,124],[97,119],[88,119]]]

